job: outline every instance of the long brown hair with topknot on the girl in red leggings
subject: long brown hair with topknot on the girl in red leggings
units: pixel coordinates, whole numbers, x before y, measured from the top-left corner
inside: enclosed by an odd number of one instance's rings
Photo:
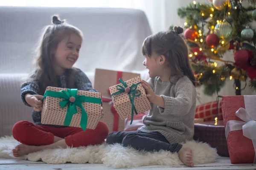
[[[52,65],[52,51],[55,51],[58,43],[65,37],[76,34],[83,37],[82,32],[60,20],[57,15],[52,17],[52,24],[44,28],[43,34],[39,40],[38,48],[35,51],[35,72],[30,79],[39,82],[40,95],[44,94],[47,86],[58,87],[57,75]],[[67,88],[74,88],[73,74],[75,69],[67,69],[64,72],[66,76]]]

